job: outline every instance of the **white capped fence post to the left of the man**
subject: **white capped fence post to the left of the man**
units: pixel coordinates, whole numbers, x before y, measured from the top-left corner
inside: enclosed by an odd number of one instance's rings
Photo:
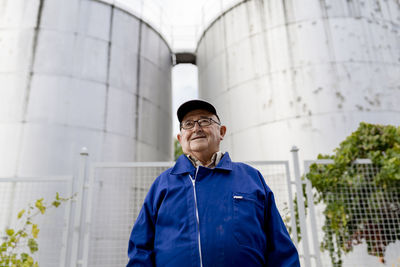
[[[84,184],[85,184],[85,176],[86,176],[86,165],[88,160],[89,152],[86,147],[82,147],[80,153],[79,160],[79,173],[77,177],[77,191],[78,195],[76,198],[76,208],[75,208],[75,216],[74,216],[74,229],[72,235],[72,252],[71,252],[71,266],[79,266],[82,264],[78,261],[79,257],[79,241],[81,236],[81,216],[82,216],[82,207],[83,207],[83,198],[84,198]]]

